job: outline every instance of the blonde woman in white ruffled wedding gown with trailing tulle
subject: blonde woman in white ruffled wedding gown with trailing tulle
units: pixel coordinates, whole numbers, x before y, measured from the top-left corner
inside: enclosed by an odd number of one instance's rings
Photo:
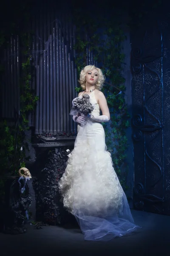
[[[88,118],[79,113],[73,116],[77,138],[59,181],[64,207],[77,219],[85,240],[110,240],[137,228],[105,145],[102,122],[109,121],[110,113],[100,91],[104,81],[95,66],[86,66],[80,73],[84,91],[78,97],[89,94],[94,109]]]

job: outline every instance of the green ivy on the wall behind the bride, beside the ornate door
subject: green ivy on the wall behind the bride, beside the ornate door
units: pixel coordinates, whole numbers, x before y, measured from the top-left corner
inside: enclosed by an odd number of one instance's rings
[[[121,184],[125,188],[125,171],[128,170],[126,163],[127,137],[126,129],[129,127],[130,115],[125,103],[125,79],[122,76],[122,68],[125,55],[122,52],[122,42],[125,35],[119,12],[108,12],[92,15],[82,9],[74,10],[74,24],[76,26],[76,65],[78,76],[83,67],[87,65],[86,49],[89,47],[94,54],[94,60],[106,76],[103,93],[106,96],[111,113],[111,121],[103,123],[105,129],[106,144],[111,152],[113,165]],[[76,87],[76,91],[81,91]]]

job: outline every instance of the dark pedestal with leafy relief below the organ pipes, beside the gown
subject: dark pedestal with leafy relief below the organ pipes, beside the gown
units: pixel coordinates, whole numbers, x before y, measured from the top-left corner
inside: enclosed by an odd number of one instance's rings
[[[61,179],[68,160],[67,148],[55,148],[45,151],[44,163],[40,175],[33,181],[36,198],[36,218],[47,224],[64,224],[71,219],[60,201],[58,182]],[[40,156],[40,158],[42,158]],[[40,166],[40,165],[39,165]],[[41,167],[39,167],[41,168]]]

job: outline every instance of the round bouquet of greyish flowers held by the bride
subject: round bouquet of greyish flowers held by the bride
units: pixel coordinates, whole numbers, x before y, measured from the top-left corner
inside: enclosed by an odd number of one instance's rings
[[[73,107],[71,108],[70,112],[71,115],[75,115],[77,112],[79,112],[81,116],[88,116],[94,110],[88,94],[84,94],[81,98],[75,98],[72,101],[72,105]]]

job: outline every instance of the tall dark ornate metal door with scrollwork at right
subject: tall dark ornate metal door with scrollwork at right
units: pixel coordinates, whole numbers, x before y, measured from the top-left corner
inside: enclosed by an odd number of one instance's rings
[[[170,215],[170,17],[133,32],[134,208]]]

